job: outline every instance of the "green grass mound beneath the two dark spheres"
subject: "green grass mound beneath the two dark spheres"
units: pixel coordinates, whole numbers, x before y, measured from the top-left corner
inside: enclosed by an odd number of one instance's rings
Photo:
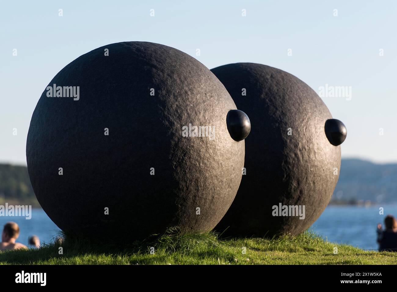
[[[59,254],[60,247],[63,254]],[[154,248],[154,254],[150,248]],[[337,247],[337,254],[334,254]],[[152,248],[152,250],[153,250]],[[396,264],[397,253],[364,251],[353,246],[333,244],[304,232],[297,236],[226,238],[209,232],[177,235],[168,233],[152,240],[135,242],[124,250],[110,246],[93,247],[81,241],[64,240],[37,250],[0,252],[0,264]]]

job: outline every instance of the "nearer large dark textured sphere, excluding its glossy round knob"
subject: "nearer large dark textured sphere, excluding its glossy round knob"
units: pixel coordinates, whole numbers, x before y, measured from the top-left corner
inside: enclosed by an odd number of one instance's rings
[[[235,109],[179,50],[97,48],[52,79],[33,113],[26,156],[37,199],[58,227],[88,238],[208,231],[241,181],[244,141],[226,123]]]

